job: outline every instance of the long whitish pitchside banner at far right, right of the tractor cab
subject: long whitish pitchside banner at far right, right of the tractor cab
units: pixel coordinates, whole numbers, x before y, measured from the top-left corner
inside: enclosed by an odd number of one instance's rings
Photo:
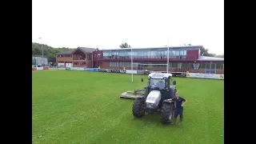
[[[224,79],[224,74],[186,73],[186,78]]]

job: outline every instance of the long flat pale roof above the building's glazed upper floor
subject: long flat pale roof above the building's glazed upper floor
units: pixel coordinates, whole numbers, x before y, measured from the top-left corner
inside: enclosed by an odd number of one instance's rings
[[[204,46],[169,46],[169,49],[180,49],[180,48],[186,48],[186,49],[190,49],[190,48],[199,48],[199,47],[203,47]],[[145,48],[118,48],[118,49],[102,49],[102,51],[104,50],[146,50],[146,49],[168,49],[168,46],[160,46],[160,47],[145,47]]]

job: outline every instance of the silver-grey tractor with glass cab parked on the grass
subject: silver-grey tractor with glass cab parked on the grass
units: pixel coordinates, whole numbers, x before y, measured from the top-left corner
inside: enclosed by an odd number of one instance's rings
[[[167,99],[174,98],[176,81],[172,80],[172,74],[151,73],[148,75],[148,85],[144,94],[135,94],[132,112],[135,118],[141,118],[145,113],[161,113],[161,122],[170,124],[174,116],[174,102]],[[173,83],[173,85],[171,84]]]

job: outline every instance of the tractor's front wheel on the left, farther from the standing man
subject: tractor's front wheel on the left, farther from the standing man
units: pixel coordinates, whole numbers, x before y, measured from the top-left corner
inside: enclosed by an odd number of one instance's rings
[[[133,114],[135,118],[140,118],[145,114],[145,98],[136,98],[133,105]]]

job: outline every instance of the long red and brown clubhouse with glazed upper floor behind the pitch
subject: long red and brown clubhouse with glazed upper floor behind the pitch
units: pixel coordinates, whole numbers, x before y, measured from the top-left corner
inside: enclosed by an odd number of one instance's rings
[[[224,58],[200,55],[203,46],[172,46],[169,47],[170,71],[190,71],[198,73],[224,74]],[[167,47],[133,48],[134,70],[166,70]],[[131,49],[119,48],[98,50],[78,47],[76,50],[57,54],[57,62],[63,66],[98,67],[104,69],[130,70]],[[93,56],[93,58],[92,58]],[[136,64],[137,63],[137,64]]]

